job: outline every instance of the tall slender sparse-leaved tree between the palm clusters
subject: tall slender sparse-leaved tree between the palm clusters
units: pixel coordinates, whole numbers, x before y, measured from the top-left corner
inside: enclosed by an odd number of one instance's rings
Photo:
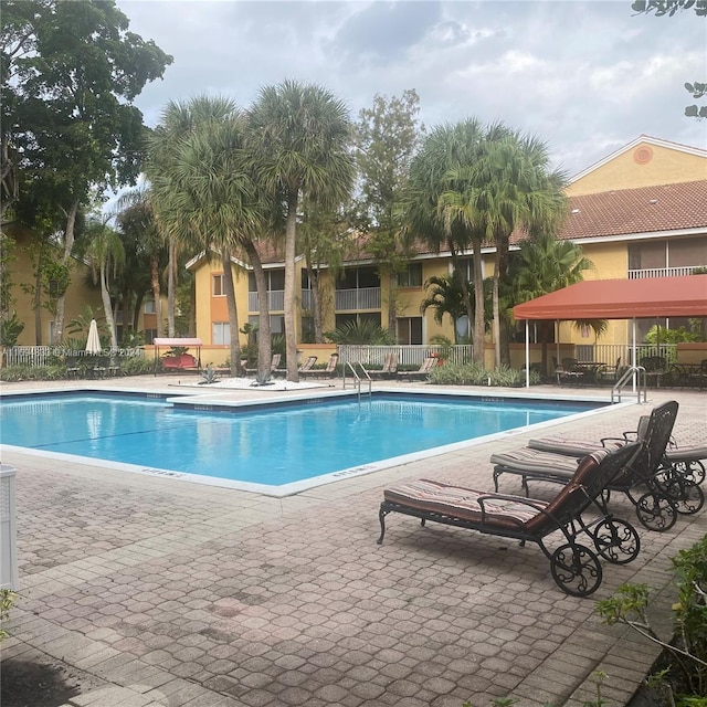
[[[359,113],[355,127],[356,163],[361,198],[359,211],[376,261],[388,266],[388,329],[395,333],[397,273],[408,262],[401,249],[401,202],[410,162],[424,126],[418,123],[420,98],[413,88],[388,99],[377,94],[373,105]]]

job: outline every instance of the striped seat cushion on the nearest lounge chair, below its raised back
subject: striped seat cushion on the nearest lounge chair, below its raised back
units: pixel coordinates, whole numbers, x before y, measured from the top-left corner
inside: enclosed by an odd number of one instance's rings
[[[478,502],[482,496],[485,513]],[[494,494],[489,492],[452,486],[426,478],[388,488],[383,492],[383,498],[416,510],[440,513],[498,528],[518,529],[539,513],[537,508],[524,503],[525,499],[521,497],[494,498]],[[548,505],[541,500],[532,503],[538,508]]]

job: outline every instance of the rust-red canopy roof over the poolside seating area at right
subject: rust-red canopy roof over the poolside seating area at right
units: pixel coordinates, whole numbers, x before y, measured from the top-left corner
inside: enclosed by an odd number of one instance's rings
[[[513,309],[516,319],[707,317],[707,275],[587,279]]]

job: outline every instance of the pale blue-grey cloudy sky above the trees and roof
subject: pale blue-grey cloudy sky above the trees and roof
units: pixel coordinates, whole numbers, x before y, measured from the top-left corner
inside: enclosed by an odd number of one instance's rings
[[[476,117],[548,144],[568,177],[640,135],[707,148],[684,115],[707,81],[707,18],[635,14],[632,0],[117,0],[173,63],[136,105],[208,94],[249,107],[262,87],[315,83],[354,120],[414,88],[431,128]]]

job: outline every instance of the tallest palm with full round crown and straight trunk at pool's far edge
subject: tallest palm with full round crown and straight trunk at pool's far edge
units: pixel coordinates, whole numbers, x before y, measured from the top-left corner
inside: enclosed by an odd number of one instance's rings
[[[252,159],[260,182],[285,212],[285,339],[287,380],[298,381],[295,256],[300,199],[325,208],[342,202],[354,181],[346,106],[315,84],[266,86],[250,114]]]

